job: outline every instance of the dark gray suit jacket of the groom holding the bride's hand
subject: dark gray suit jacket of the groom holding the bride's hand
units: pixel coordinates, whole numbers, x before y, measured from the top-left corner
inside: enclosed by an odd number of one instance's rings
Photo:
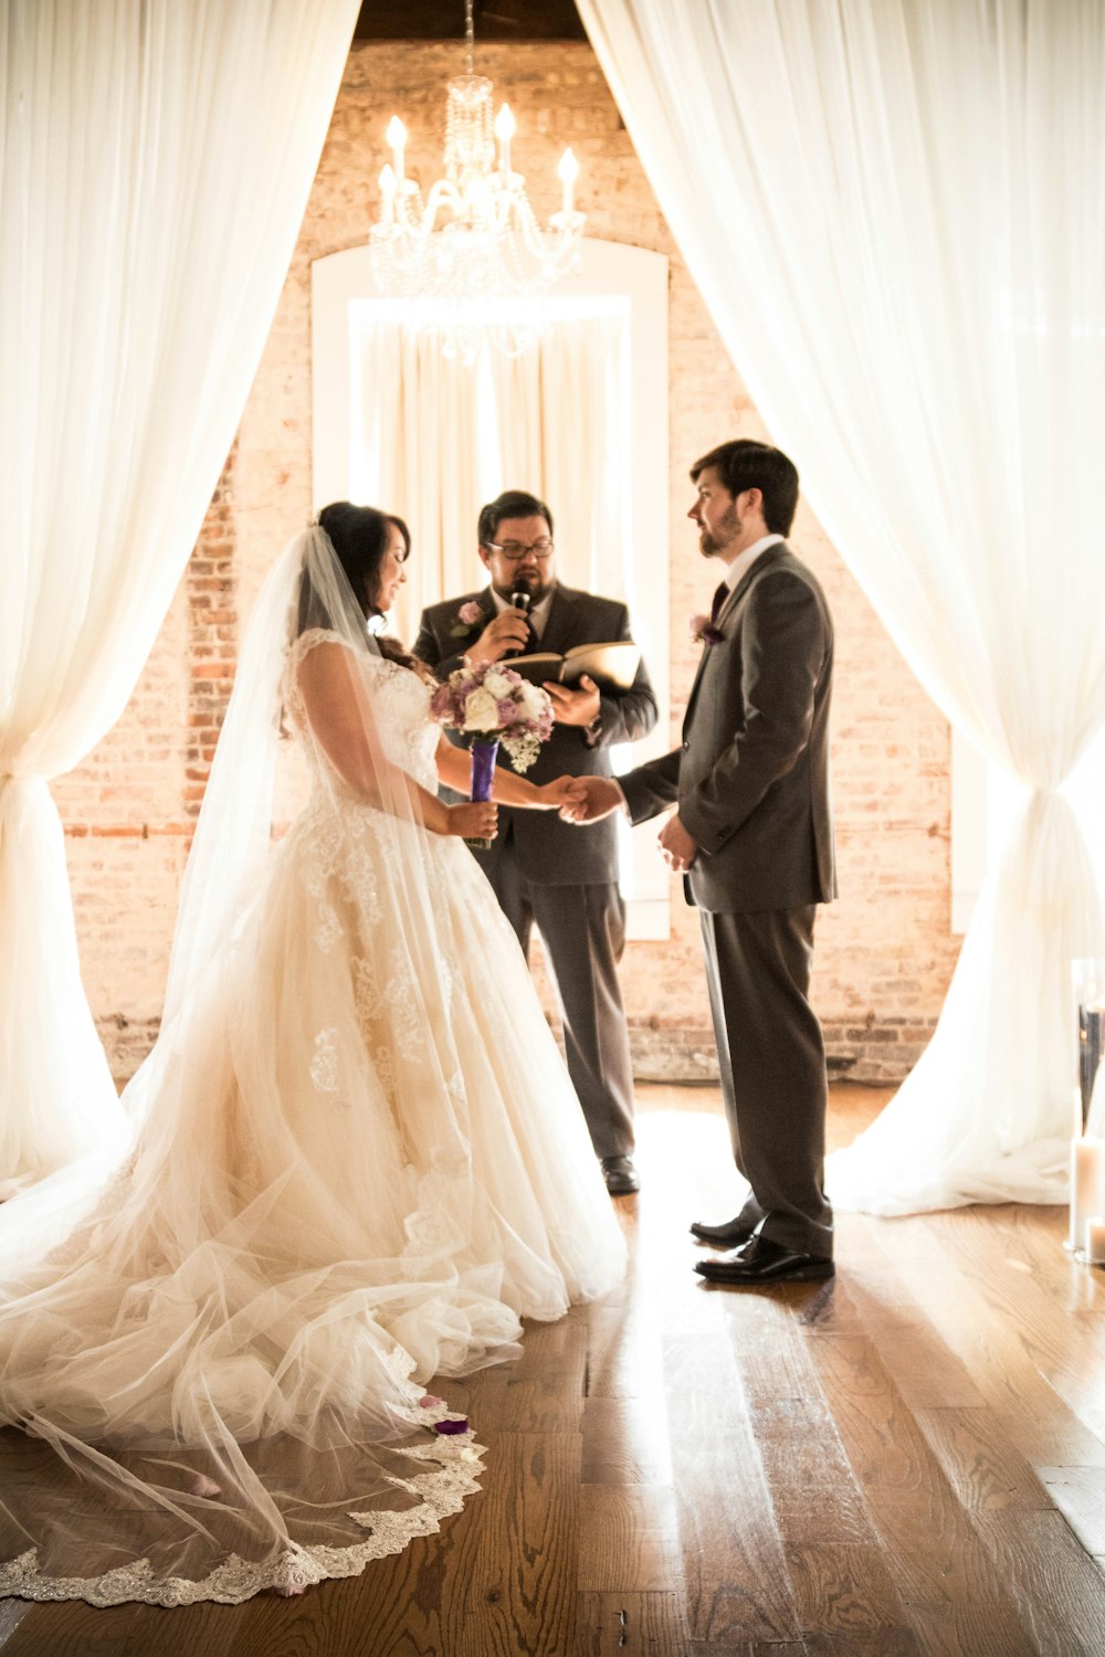
[[[621,777],[633,822],[678,804],[697,843],[689,903],[719,915],[837,896],[828,799],[833,623],[785,542],[729,595],[702,648],[683,744]]]

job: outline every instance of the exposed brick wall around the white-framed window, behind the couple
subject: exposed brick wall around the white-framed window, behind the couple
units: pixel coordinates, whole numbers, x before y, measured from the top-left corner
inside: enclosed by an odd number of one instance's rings
[[[497,45],[477,58],[519,119],[515,166],[538,217],[558,205],[553,169],[572,143],[588,234],[671,260],[674,737],[696,659],[686,618],[707,608],[716,582],[684,517],[688,467],[724,437],[770,434],[726,358],[590,48]],[[393,113],[409,128],[411,169],[437,176],[444,85],[459,63],[456,45],[355,45],[237,449],[192,565],[124,719],[58,787],[84,979],[118,1074],[156,1027],[184,845],[225,708],[239,613],[249,613],[263,572],[311,510],[310,262],[364,240]],[[958,954],[948,726],[805,507],[794,540],[837,618],[842,900],[818,923],[815,999],[833,1067],[893,1080],[931,1034]],[[697,920],[676,885],[671,940],[630,944],[623,983],[639,1074],[712,1075]]]

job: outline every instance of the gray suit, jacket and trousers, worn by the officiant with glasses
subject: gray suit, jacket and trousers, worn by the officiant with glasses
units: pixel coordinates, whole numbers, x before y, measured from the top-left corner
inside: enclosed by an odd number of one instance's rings
[[[464,603],[480,605],[470,628],[459,621]],[[490,588],[462,593],[422,611],[414,655],[444,679],[495,618]],[[631,638],[630,613],[613,598],[553,587],[540,650],[601,645]],[[510,666],[509,658],[504,666]],[[555,724],[525,772],[532,782],[570,774],[611,774],[610,747],[635,742],[656,724],[656,696],[644,663],[630,689],[601,689],[598,731]],[[499,764],[510,766],[504,751]],[[563,1016],[568,1074],[580,1097],[596,1157],[633,1150],[633,1069],[618,961],[625,949],[625,903],[618,891],[618,835],[613,820],[585,832],[557,812],[499,812],[489,852],[475,853],[524,949],[533,923],[545,941]]]

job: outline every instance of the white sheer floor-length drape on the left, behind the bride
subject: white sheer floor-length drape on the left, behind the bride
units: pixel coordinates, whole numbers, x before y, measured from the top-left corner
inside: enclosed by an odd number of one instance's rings
[[[48,779],[123,711],[295,247],[356,0],[0,12],[0,1186],[119,1127]]]

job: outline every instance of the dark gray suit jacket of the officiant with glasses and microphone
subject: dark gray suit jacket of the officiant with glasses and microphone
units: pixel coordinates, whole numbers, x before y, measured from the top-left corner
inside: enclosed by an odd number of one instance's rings
[[[466,630],[459,621],[459,610],[472,600],[479,603],[482,618]],[[469,643],[480,636],[494,616],[495,601],[490,587],[429,605],[422,611],[414,655],[429,663],[439,679],[447,679],[454,668],[461,666]],[[555,583],[542,650],[563,655],[573,645],[605,645],[631,636],[630,611],[623,603]],[[509,658],[504,666],[510,666]],[[600,727],[595,737],[588,737],[581,726],[555,724],[552,737],[525,775],[538,784],[565,774],[608,777],[610,747],[615,742],[635,742],[648,736],[654,724],[656,696],[641,661],[636,679],[628,689],[601,691]],[[502,749],[499,764],[510,767]],[[514,845],[524,873],[537,885],[590,886],[618,878],[618,835],[613,819],[581,830],[560,822],[557,812],[510,810],[504,805],[499,810],[499,833],[490,850],[475,853],[489,875],[494,875],[507,845]]]

